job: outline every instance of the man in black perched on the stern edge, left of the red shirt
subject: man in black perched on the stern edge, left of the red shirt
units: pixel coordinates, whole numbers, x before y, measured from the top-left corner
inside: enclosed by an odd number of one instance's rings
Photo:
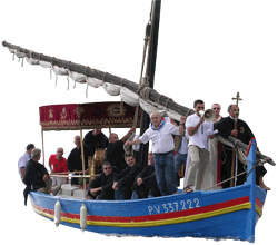
[[[26,175],[23,178],[23,183],[27,185],[24,189],[24,204],[27,205],[27,196],[28,193],[39,192],[44,194],[50,194],[52,179],[48,175],[47,168],[39,163],[41,157],[41,150],[38,148],[33,148],[31,153],[31,159],[28,161],[26,167]],[[60,187],[56,187],[52,189],[52,194],[57,195]]]

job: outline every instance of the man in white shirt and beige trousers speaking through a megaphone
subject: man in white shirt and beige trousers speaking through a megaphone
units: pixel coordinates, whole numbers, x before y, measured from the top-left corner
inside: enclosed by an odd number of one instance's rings
[[[196,114],[187,117],[186,120],[186,128],[189,135],[188,151],[191,159],[185,187],[186,193],[201,188],[203,174],[209,160],[208,139],[214,138],[214,136],[207,135],[208,129],[214,130],[214,122],[205,121],[205,118],[199,114],[199,111],[205,110],[203,101],[196,100],[193,108]]]

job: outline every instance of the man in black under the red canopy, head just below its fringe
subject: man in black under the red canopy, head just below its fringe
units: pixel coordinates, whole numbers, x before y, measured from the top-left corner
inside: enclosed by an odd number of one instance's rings
[[[95,155],[96,149],[106,149],[108,145],[107,136],[101,131],[101,128],[96,128],[88,131],[83,138],[83,144],[89,147]]]

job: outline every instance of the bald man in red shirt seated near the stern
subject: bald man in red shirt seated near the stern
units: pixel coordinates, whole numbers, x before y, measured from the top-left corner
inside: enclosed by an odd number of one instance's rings
[[[63,148],[57,148],[57,153],[49,157],[49,168],[51,174],[67,173],[67,159],[62,157]],[[68,178],[64,177],[52,177],[52,186],[59,186],[68,183]]]

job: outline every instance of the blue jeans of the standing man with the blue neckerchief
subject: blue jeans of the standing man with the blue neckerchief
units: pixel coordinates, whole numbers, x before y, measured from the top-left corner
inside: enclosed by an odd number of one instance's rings
[[[158,188],[162,196],[172,195],[177,189],[177,177],[173,173],[173,151],[155,154],[155,170]]]

